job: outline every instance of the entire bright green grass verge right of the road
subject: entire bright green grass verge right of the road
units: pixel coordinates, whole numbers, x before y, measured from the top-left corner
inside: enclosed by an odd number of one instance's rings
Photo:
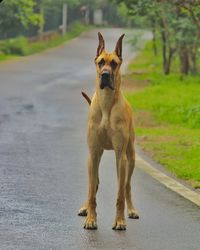
[[[126,96],[143,149],[177,177],[200,188],[200,76],[181,77],[176,69],[175,62],[172,73],[165,76],[161,56],[153,55],[149,42],[129,66],[133,82],[149,84]]]

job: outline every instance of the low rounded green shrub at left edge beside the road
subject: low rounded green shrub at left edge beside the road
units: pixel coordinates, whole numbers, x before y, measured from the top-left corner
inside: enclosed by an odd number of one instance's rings
[[[27,55],[29,52],[28,41],[22,36],[5,40],[1,43],[1,51],[6,55]]]

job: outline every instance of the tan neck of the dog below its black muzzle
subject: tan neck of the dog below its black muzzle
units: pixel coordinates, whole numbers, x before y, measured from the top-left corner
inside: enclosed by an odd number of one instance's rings
[[[99,76],[97,75],[96,79],[96,96],[99,102],[99,106],[102,112],[102,116],[105,119],[109,119],[111,109],[118,101],[118,97],[121,93],[121,74],[120,72],[116,75],[114,79],[114,90],[106,87],[100,89]]]

